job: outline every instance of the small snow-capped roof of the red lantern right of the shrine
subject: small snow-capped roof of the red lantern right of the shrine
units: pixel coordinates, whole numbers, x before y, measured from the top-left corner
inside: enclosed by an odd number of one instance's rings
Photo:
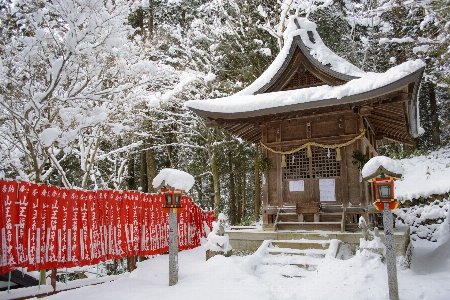
[[[375,156],[371,158],[361,170],[361,175],[364,180],[369,180],[377,177],[381,173],[386,176],[401,178],[403,174],[403,167],[397,160],[386,156]]]

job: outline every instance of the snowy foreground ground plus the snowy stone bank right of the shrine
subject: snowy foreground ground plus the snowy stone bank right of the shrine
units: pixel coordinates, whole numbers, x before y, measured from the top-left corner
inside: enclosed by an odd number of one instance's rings
[[[450,191],[450,150],[400,160],[403,178],[396,195],[407,199]],[[397,211],[399,224],[411,226],[412,263],[400,266],[400,299],[450,299],[450,203],[435,201]],[[429,220],[438,220],[429,225]],[[434,241],[434,242],[432,242]],[[95,286],[60,292],[48,299],[388,299],[387,269],[377,254],[364,250],[352,255],[341,247],[337,259],[326,257],[315,271],[286,277],[296,271],[264,263],[270,254],[215,256],[205,261],[205,248],[179,253],[179,281],[169,286],[169,256],[139,263],[128,276]],[[300,272],[302,273],[302,272]],[[127,275],[127,274],[126,274]]]

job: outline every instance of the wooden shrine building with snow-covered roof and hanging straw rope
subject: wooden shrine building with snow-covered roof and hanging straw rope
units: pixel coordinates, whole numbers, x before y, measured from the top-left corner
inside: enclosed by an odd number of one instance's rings
[[[377,155],[387,140],[414,144],[425,64],[365,73],[322,42],[316,25],[292,17],[285,46],[254,83],[187,107],[209,126],[261,144],[263,228],[351,230],[370,216],[373,195],[352,156]]]

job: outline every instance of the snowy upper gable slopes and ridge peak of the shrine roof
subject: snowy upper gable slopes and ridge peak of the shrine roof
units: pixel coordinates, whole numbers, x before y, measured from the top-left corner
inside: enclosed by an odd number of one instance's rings
[[[252,84],[236,95],[254,95],[267,91],[282,75],[299,48],[304,56],[318,69],[343,81],[361,77],[365,72],[339,57],[320,38],[316,24],[305,18],[291,16],[283,33],[285,44],[272,64]]]

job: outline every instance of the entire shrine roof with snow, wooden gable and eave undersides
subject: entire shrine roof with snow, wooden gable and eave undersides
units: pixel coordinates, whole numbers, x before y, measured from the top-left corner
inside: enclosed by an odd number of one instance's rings
[[[250,86],[229,97],[187,101],[186,107],[209,120],[210,126],[253,143],[261,137],[254,124],[268,116],[292,118],[299,112],[326,113],[335,107],[365,106],[382,138],[412,144],[412,138],[420,135],[417,93],[423,61],[407,61],[384,73],[363,72],[327,48],[313,22],[291,17],[284,36],[283,49]],[[383,108],[394,110],[395,119]]]

